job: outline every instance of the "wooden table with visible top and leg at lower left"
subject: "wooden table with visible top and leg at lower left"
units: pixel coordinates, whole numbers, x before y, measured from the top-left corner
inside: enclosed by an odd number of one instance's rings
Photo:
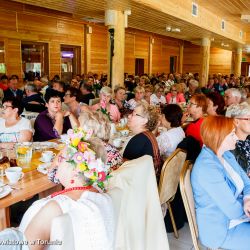
[[[41,152],[33,154],[30,167],[23,169],[24,177],[14,185],[17,189],[13,189],[9,195],[0,199],[0,230],[10,226],[9,208],[11,205],[27,200],[36,194],[39,194],[39,198],[43,198],[62,189],[61,185],[52,183],[48,180],[47,175],[37,171],[36,168],[41,164],[40,156]],[[3,177],[2,180],[4,183],[8,183],[6,177]]]

